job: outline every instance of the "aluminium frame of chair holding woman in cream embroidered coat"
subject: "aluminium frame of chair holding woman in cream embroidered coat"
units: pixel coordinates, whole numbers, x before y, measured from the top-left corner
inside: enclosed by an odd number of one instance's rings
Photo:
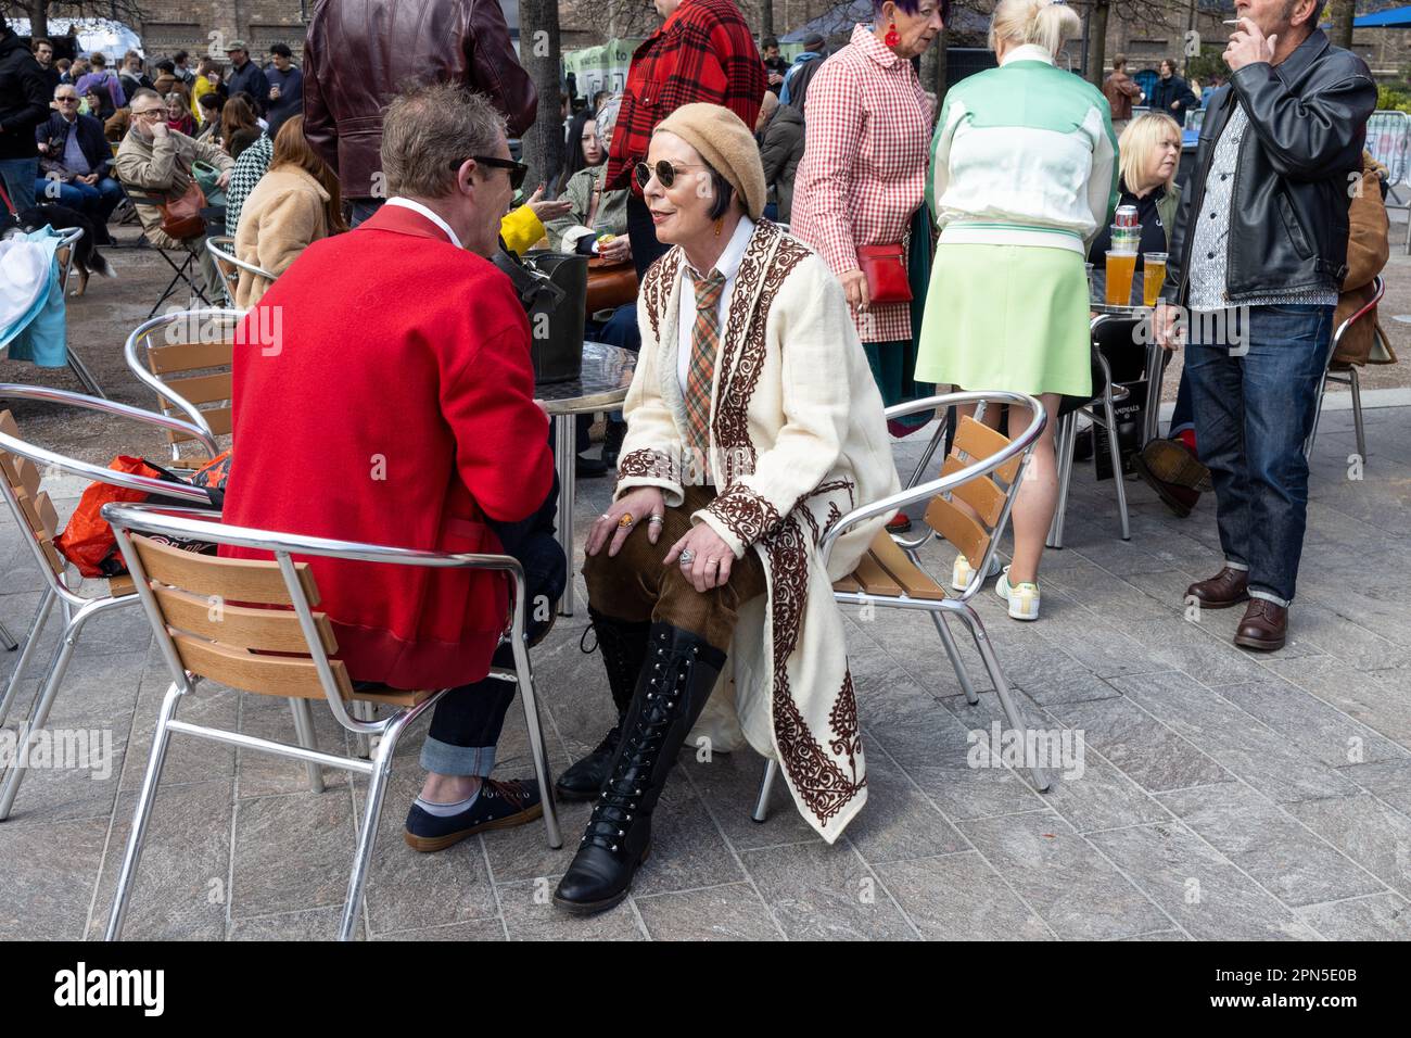
[[[965,590],[959,593],[959,597],[944,597],[944,599],[914,599],[906,595],[903,590],[899,596],[879,596],[869,595],[865,590],[861,592],[845,592],[834,590],[832,600],[840,604],[848,606],[882,606],[885,609],[919,609],[930,614],[931,623],[935,624],[935,631],[940,634],[941,644],[945,648],[945,655],[955,671],[955,676],[965,692],[965,702],[971,706],[979,703],[979,693],[975,692],[975,686],[971,682],[969,672],[965,667],[965,661],[961,660],[959,650],[955,644],[955,637],[951,634],[950,628],[945,626],[947,614],[954,614],[961,619],[965,628],[969,631],[971,638],[975,641],[975,648],[979,652],[981,662],[985,665],[985,671],[989,674],[991,681],[995,685],[995,695],[1000,702],[1012,727],[1019,732],[1024,732],[1029,727],[1024,719],[1023,710],[1017,702],[1009,693],[1009,684],[1005,681],[1005,674],[1000,669],[999,658],[995,655],[993,645],[991,645],[989,636],[985,633],[985,624],[981,621],[979,614],[975,607],[971,606],[971,599],[979,592],[985,585],[985,573],[989,572],[991,561],[999,549],[999,541],[1003,538],[1005,527],[1009,525],[1009,513],[1013,508],[1015,497],[1019,494],[1019,487],[1023,484],[1024,473],[1029,469],[1029,462],[1033,456],[1034,448],[1038,443],[1038,438],[1044,431],[1044,425],[1048,422],[1048,415],[1044,412],[1044,407],[1034,397],[1023,393],[1010,393],[1007,390],[991,390],[991,391],[972,391],[972,393],[947,393],[934,397],[926,397],[923,400],[913,400],[906,404],[897,404],[889,407],[883,414],[888,421],[893,418],[903,418],[909,414],[916,414],[919,411],[927,410],[941,410],[955,407],[957,404],[976,404],[975,421],[983,417],[986,404],[1017,404],[1020,407],[1030,408],[1033,418],[1029,426],[1020,432],[1017,436],[1010,438],[1010,442],[996,451],[995,453],[983,458],[981,460],[972,460],[965,467],[958,472],[952,472],[948,476],[940,476],[926,483],[919,483],[917,480],[926,472],[935,455],[935,448],[945,435],[945,421],[941,419],[931,436],[930,443],[927,443],[921,459],[917,462],[916,469],[912,472],[912,477],[907,480],[907,486],[895,494],[883,497],[872,504],[864,504],[854,508],[824,535],[820,551],[823,554],[823,565],[828,565],[828,556],[832,554],[832,545],[837,542],[838,537],[849,527],[862,523],[864,520],[875,518],[878,515],[890,515],[899,508],[904,508],[909,504],[916,504],[920,501],[930,501],[931,499],[950,494],[958,487],[969,483],[971,480],[979,479],[981,476],[988,476],[996,469],[1003,467],[1016,458],[1019,460],[1019,467],[1015,472],[1015,479],[1009,484],[1005,493],[1005,504],[1000,508],[999,518],[995,520],[993,530],[989,534],[989,542],[985,547],[985,555],[978,566],[972,566],[972,575],[969,585]],[[902,538],[893,538],[899,547],[902,547],[910,556],[912,562],[920,566],[920,559],[917,558],[917,551],[931,539],[943,539],[938,532],[928,530],[923,537],[914,541],[903,541]],[[924,571],[923,571],[924,572]],[[1048,772],[1038,767],[1037,763],[1030,767],[1030,774],[1034,778],[1034,785],[1040,792],[1048,792],[1053,788],[1053,782],[1048,778]],[[775,784],[775,778],[779,775],[779,761],[770,758],[765,765],[765,777],[759,785],[759,797],[755,802],[755,811],[752,818],[756,822],[763,822],[769,816],[769,795]]]

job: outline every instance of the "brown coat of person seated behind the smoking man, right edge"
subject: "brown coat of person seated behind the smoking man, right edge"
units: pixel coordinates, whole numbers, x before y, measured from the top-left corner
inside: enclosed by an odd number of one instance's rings
[[[1366,151],[1362,153],[1362,181],[1355,185],[1352,205],[1348,206],[1348,277],[1342,280],[1342,295],[1333,314],[1333,330],[1371,301],[1371,281],[1387,266],[1391,244],[1387,240],[1390,223],[1387,206],[1381,201],[1381,177],[1387,168]],[[1362,315],[1348,328],[1335,363],[1342,364],[1394,364],[1395,353],[1386,343],[1386,333],[1377,323],[1377,308]]]

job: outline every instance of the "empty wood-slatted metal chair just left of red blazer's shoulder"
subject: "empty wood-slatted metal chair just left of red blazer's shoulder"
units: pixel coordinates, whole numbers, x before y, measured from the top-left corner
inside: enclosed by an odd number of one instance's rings
[[[128,370],[157,393],[165,415],[178,415],[210,436],[230,434],[230,364],[236,326],[244,314],[234,309],[192,309],[164,314],[138,325],[123,346]],[[192,467],[182,455],[190,441],[182,429],[168,429],[172,466]]]

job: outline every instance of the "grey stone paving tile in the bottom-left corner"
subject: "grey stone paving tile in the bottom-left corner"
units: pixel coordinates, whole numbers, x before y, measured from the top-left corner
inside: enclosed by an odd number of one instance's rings
[[[79,941],[107,839],[104,819],[0,825],[0,941]]]

